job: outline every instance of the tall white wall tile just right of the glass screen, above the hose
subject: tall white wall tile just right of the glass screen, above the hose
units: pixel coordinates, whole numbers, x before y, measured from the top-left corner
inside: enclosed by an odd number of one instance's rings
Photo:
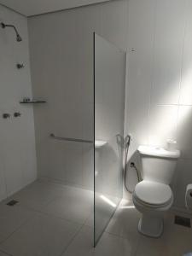
[[[138,19],[139,17],[139,19]],[[141,39],[142,38],[142,39]],[[148,143],[148,108],[154,45],[154,1],[130,1],[128,13],[125,135],[132,144]],[[137,148],[133,148],[135,151]]]

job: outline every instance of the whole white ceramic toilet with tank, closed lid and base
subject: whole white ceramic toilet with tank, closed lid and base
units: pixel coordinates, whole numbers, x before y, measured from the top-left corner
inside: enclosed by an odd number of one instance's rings
[[[133,203],[142,213],[138,230],[145,236],[159,237],[163,232],[164,213],[172,207],[173,195],[169,184],[176,169],[179,150],[140,146],[143,181],[133,192]]]

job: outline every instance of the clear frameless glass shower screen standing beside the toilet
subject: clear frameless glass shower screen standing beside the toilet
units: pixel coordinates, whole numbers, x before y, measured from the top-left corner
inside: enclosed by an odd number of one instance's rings
[[[123,195],[125,52],[95,33],[94,55],[96,246]]]

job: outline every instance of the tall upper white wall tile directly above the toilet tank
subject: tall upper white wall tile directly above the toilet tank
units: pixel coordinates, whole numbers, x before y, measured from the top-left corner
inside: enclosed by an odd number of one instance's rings
[[[181,81],[186,1],[157,1],[154,13],[152,101],[177,104]]]

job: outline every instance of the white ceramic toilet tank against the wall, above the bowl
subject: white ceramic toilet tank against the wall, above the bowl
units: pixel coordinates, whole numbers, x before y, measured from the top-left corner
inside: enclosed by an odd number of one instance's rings
[[[143,180],[170,184],[180,157],[179,150],[169,151],[154,146],[139,146],[137,149],[142,164]]]

